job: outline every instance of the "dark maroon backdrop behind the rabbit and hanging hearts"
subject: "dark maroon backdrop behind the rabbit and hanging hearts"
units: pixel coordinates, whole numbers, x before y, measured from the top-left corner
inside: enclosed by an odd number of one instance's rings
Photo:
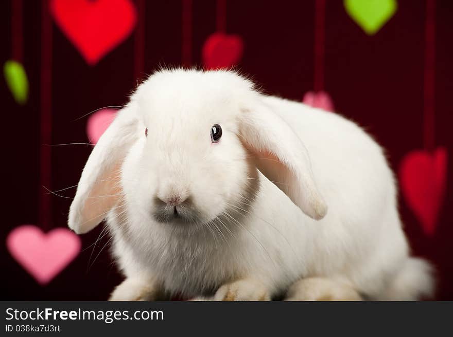
[[[11,3],[0,2],[0,60],[11,57]],[[181,64],[181,1],[146,3],[145,72],[159,64]],[[240,69],[251,74],[270,92],[300,100],[313,83],[314,1],[229,0],[226,30],[240,34],[245,54]],[[215,1],[194,1],[193,60],[201,65],[201,47],[215,30]],[[30,82],[28,103],[17,105],[2,81],[3,144],[2,242],[9,231],[24,223],[38,224],[38,198],[46,191],[39,181],[41,2],[24,2],[24,66]],[[437,1],[435,56],[435,140],[447,147],[452,157],[453,108],[453,2]],[[327,1],[325,88],[339,113],[369,130],[388,150],[394,170],[402,157],[423,146],[425,1],[400,0],[394,17],[374,36],[366,35],[343,8],[340,0]],[[53,28],[53,133],[52,143],[87,141],[86,118],[90,111],[107,105],[121,105],[134,88],[134,39],[129,39],[88,66],[58,27]],[[143,74],[145,77],[145,74]],[[77,184],[91,147],[52,147],[52,190]],[[453,299],[452,179],[449,160],[447,193],[437,232],[426,237],[403,200],[400,210],[415,254],[437,266],[438,299]],[[423,177],[421,177],[423,179]],[[73,196],[75,190],[62,194]],[[53,197],[53,224],[65,227],[71,199]],[[120,276],[105,249],[88,268],[89,247],[101,227],[82,236],[83,250],[47,286],[39,286],[1,245],[2,298],[25,299],[106,299]],[[94,250],[96,256],[107,238]]]

